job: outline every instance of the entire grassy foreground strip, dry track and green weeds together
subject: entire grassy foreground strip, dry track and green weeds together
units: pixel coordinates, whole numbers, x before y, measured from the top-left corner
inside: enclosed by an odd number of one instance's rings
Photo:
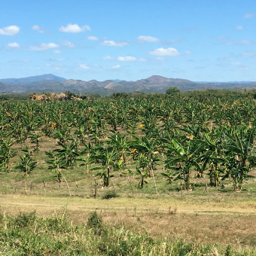
[[[1,255],[256,255],[250,198],[1,194],[0,205]]]

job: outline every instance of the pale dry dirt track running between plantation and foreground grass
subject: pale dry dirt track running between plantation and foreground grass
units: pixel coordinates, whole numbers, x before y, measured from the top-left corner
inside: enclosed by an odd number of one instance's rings
[[[114,198],[101,200],[81,197],[36,197],[26,195],[0,195],[2,211],[36,211],[50,213],[66,207],[71,211],[90,212],[96,209],[108,212],[154,212],[176,211],[185,214],[245,214],[256,215],[256,201],[202,201],[177,200],[176,198]]]

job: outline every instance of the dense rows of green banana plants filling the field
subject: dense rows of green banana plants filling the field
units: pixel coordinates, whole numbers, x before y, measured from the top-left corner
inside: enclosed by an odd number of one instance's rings
[[[0,165],[27,178],[45,154],[59,182],[63,169],[98,170],[102,185],[111,176],[138,175],[140,188],[163,169],[167,182],[209,176],[212,186],[231,181],[234,190],[256,163],[256,101],[224,97],[122,95],[62,102],[2,102]],[[42,150],[45,138],[56,139]],[[18,146],[19,145],[19,146]],[[22,149],[22,152],[21,152]],[[38,153],[39,152],[39,153]],[[40,153],[41,152],[41,153]],[[17,163],[17,156],[20,160]]]

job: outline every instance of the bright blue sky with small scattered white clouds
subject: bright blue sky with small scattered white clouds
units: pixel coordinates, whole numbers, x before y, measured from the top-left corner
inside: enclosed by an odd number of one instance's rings
[[[256,81],[255,0],[2,0],[0,78]]]

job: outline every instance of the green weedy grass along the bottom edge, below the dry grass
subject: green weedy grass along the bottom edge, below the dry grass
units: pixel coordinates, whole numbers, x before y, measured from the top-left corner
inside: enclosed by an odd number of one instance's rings
[[[252,249],[152,239],[145,230],[110,227],[93,212],[86,224],[73,224],[69,213],[39,218],[35,212],[0,215],[2,255],[255,255]]]

